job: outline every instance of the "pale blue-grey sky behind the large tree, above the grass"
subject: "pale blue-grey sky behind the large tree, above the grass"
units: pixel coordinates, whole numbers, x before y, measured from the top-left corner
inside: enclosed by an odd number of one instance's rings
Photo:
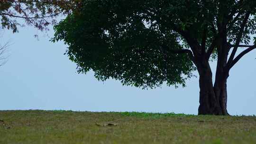
[[[39,40],[34,35],[39,35]],[[63,55],[67,45],[52,43],[33,27],[18,34],[4,30],[0,44],[9,41],[8,62],[0,67],[0,110],[44,109],[75,111],[138,111],[197,114],[198,78],[187,87],[141,90],[104,83],[76,73],[76,65]],[[256,115],[256,50],[231,70],[228,79],[228,111],[231,115]],[[212,64],[215,71],[215,65]],[[197,72],[195,72],[196,75]]]

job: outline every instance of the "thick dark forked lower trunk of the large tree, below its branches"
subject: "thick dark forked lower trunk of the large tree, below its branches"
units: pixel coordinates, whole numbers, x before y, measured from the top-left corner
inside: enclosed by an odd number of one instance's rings
[[[227,79],[216,78],[212,84],[210,64],[197,64],[199,72],[200,106],[199,115],[228,115],[227,111]],[[224,74],[223,74],[224,75]]]

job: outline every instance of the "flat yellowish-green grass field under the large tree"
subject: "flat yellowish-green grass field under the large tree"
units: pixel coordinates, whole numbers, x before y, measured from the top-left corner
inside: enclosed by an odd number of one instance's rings
[[[256,117],[0,111],[0,144],[256,144]]]

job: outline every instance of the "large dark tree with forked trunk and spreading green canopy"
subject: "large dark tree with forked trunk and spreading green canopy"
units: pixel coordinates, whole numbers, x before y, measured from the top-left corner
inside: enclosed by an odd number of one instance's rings
[[[55,26],[53,41],[64,40],[78,72],[102,81],[184,86],[197,70],[198,114],[228,115],[229,71],[256,49],[255,16],[256,0],[83,0]]]

